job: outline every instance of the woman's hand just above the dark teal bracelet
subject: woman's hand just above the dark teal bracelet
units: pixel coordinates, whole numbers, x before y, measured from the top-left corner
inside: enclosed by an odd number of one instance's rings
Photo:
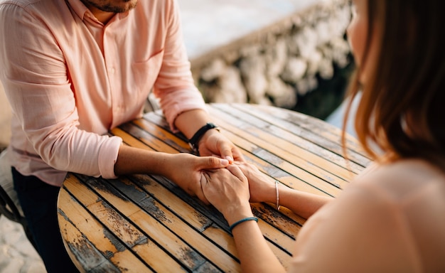
[[[237,166],[204,171],[201,186],[205,198],[223,213],[229,225],[252,216],[249,183]]]

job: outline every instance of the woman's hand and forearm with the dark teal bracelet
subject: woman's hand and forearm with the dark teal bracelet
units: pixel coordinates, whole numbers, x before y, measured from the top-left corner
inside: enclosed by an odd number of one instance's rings
[[[253,216],[249,203],[249,183],[240,168],[230,165],[205,176],[201,181],[203,193],[223,213],[229,225]],[[255,221],[236,225],[232,235],[242,272],[284,272],[284,267],[267,245]]]

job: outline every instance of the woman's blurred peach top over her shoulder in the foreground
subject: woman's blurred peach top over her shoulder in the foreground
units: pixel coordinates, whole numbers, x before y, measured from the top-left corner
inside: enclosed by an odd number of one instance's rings
[[[377,166],[318,210],[289,272],[445,272],[445,174],[419,160]]]

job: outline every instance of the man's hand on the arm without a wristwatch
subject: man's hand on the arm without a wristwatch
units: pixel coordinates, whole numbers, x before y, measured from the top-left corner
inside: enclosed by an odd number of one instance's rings
[[[192,154],[172,154],[171,159],[163,171],[164,176],[180,186],[191,196],[197,196],[204,203],[209,204],[203,194],[201,178],[203,171],[227,167],[227,159],[215,156],[193,156]]]

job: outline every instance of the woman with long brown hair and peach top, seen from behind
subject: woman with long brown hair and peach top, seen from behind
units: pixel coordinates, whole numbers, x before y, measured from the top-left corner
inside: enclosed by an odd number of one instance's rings
[[[360,88],[355,129],[375,165],[336,200],[279,186],[279,203],[309,218],[290,272],[445,272],[442,5],[353,0],[348,38],[358,71],[350,101]],[[274,183],[232,164],[204,173],[201,184],[230,225],[242,269],[284,272],[249,203],[274,203]]]

